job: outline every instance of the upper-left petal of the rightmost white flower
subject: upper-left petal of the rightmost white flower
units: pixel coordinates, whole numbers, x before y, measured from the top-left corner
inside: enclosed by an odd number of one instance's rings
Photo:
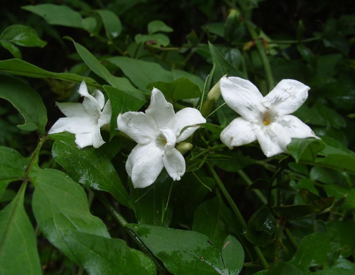
[[[260,120],[260,114],[266,111],[261,101],[263,96],[249,80],[240,77],[223,77],[220,90],[227,105],[250,122]]]

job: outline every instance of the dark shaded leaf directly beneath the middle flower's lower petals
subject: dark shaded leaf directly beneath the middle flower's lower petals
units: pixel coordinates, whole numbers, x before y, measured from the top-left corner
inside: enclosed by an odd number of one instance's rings
[[[151,187],[131,187],[132,204],[138,223],[169,227],[173,208],[171,201],[168,207],[166,204],[171,184],[173,180],[168,174],[163,174]]]

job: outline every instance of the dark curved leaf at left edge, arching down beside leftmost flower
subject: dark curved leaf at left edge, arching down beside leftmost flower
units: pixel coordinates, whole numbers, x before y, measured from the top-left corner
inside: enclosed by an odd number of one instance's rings
[[[22,81],[10,76],[0,76],[0,98],[10,101],[23,115],[25,123],[17,125],[25,131],[38,130],[44,135],[47,124],[47,110],[39,94]]]

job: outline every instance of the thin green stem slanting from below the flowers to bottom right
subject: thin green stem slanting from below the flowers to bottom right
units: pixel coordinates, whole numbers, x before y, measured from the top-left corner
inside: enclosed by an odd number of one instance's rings
[[[234,214],[236,215],[240,225],[242,226],[243,231],[245,231],[247,229],[247,224],[244,220],[244,217],[242,216],[241,212],[238,209],[238,206],[235,204],[234,200],[232,199],[232,197],[229,195],[227,189],[224,187],[223,182],[220,180],[220,178],[218,177],[218,174],[216,173],[216,171],[213,169],[213,166],[211,165],[211,163],[206,162],[209,171],[211,172],[214,180],[217,182],[218,187],[220,188],[220,190],[222,191],[223,195],[225,196],[225,198],[227,199],[229,205],[232,207],[232,210],[234,212]],[[261,264],[263,265],[264,269],[268,269],[269,265],[264,257],[264,255],[262,254],[260,247],[258,246],[254,246],[254,250],[261,262]]]

